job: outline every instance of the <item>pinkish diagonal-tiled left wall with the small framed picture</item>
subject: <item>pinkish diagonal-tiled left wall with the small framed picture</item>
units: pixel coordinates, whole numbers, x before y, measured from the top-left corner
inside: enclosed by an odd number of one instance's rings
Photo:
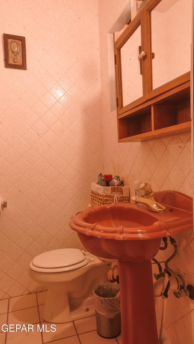
[[[36,255],[79,247],[68,226],[103,170],[97,0],[0,3],[0,33],[25,36],[27,70],[0,49],[0,299],[40,291]],[[3,40],[2,40],[3,42]]]

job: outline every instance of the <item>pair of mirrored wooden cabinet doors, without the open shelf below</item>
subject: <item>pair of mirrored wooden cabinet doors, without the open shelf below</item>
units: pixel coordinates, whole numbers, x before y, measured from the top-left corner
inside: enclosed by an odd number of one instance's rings
[[[191,28],[192,0],[144,4],[115,43],[119,116],[190,80]]]

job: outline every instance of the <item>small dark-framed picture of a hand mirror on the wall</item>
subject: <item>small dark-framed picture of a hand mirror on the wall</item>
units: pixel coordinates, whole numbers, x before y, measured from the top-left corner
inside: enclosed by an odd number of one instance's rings
[[[3,33],[6,68],[26,69],[25,37]]]

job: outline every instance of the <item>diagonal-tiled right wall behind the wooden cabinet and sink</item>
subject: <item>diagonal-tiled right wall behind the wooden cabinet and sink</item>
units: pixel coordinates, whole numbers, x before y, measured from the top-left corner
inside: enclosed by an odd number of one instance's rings
[[[134,1],[133,5],[134,5]],[[104,171],[112,172],[114,160],[116,173],[122,175],[130,185],[134,195],[134,181],[149,182],[153,190],[176,190],[193,196],[191,170],[191,135],[177,135],[145,142],[118,143],[116,110],[112,110],[114,97],[111,97],[114,61],[109,56],[112,51],[109,37],[128,22],[129,2],[126,0],[99,0],[100,71],[102,95],[102,123]],[[180,273],[186,282],[194,284],[194,240],[193,229],[175,236],[178,255],[169,264]],[[166,251],[159,251],[156,258],[165,261],[173,253],[168,245]],[[158,270],[153,266],[153,272]],[[176,299],[169,296],[165,328],[173,344],[194,343],[194,301],[189,298]],[[161,305],[157,309],[158,326],[161,319]]]

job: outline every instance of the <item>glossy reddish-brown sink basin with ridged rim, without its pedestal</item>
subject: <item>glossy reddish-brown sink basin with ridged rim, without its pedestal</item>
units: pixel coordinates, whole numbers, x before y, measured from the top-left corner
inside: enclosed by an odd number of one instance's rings
[[[69,225],[92,254],[109,259],[152,259],[162,237],[193,227],[192,198],[176,191],[156,193],[167,212],[156,214],[132,203],[89,207]]]

